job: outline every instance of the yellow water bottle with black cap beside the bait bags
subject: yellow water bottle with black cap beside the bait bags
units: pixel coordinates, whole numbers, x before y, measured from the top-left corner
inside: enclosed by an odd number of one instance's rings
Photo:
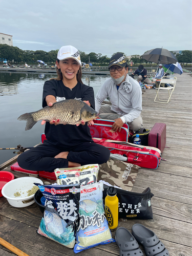
[[[118,226],[118,212],[119,212],[119,199],[117,197],[117,190],[115,187],[109,187],[106,190],[106,197],[104,199],[104,211],[108,225],[111,231]]]

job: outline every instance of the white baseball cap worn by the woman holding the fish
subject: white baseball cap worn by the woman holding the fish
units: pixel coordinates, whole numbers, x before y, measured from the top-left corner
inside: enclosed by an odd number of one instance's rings
[[[59,60],[69,59],[69,58],[75,59],[81,66],[79,51],[73,46],[62,46],[57,53],[57,58]]]

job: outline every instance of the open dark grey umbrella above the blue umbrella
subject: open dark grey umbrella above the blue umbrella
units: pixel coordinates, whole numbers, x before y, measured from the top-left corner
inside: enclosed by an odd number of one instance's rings
[[[142,58],[158,64],[171,64],[177,62],[176,56],[172,52],[163,48],[149,50],[142,55]]]

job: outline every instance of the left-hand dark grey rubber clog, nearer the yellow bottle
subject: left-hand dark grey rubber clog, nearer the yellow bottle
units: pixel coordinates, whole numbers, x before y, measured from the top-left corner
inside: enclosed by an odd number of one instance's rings
[[[137,241],[126,228],[119,227],[116,230],[115,241],[119,246],[120,256],[143,256]]]

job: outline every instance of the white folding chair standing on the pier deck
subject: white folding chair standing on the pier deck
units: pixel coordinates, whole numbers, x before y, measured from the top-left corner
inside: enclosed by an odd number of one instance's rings
[[[162,77],[161,80],[160,80],[160,83],[159,83],[159,87],[156,88],[156,97],[154,99],[155,102],[159,102],[159,103],[168,103],[170,101],[170,97],[172,96],[172,93],[174,92],[175,90],[175,86],[176,86],[176,81],[177,81],[177,77]],[[168,87],[160,87],[161,86],[161,83],[168,83],[170,84],[170,86]],[[160,91],[168,91],[168,100],[163,100],[163,99],[160,99],[159,98],[159,92]],[[162,96],[162,95],[161,95]],[[156,98],[158,98],[158,100],[156,100]]]

